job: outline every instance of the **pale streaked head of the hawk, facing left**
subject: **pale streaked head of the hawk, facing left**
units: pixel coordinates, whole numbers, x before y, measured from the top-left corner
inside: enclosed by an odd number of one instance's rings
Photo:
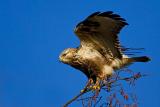
[[[65,49],[59,56],[59,60],[63,63],[69,64],[75,55],[76,49],[68,48]]]

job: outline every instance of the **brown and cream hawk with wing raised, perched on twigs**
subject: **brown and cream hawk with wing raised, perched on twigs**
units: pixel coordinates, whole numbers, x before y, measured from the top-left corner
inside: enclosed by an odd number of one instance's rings
[[[147,56],[124,54],[118,34],[125,25],[126,20],[112,11],[91,14],[75,27],[80,46],[65,49],[60,61],[82,71],[93,83],[134,62],[150,61]]]

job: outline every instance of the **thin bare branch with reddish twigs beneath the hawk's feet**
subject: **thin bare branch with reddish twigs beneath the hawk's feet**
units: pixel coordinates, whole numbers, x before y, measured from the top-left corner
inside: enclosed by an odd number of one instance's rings
[[[137,79],[147,75],[142,75],[140,72],[133,73],[132,71],[126,71],[125,73],[129,74],[127,74],[126,77],[124,77],[123,75],[121,75],[121,72],[119,71],[116,72],[115,75],[106,78],[106,80],[99,81],[100,89],[93,89],[93,86],[95,84],[91,82],[91,80],[89,79],[84,89],[78,95],[76,95],[66,104],[64,104],[63,107],[68,107],[69,104],[71,104],[74,101],[82,101],[82,107],[137,107],[138,102],[136,95],[133,93],[128,94],[126,90],[123,88],[122,81],[129,83],[129,85],[131,86],[134,86],[135,81]],[[100,96],[101,90],[106,91],[106,101],[104,100],[104,96],[103,99],[102,96]],[[93,95],[90,97],[82,97],[84,96],[84,94],[88,92],[92,92]],[[78,99],[79,97],[81,98]]]

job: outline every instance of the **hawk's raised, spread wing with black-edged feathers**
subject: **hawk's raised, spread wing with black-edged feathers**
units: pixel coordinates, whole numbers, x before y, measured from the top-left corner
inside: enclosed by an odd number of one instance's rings
[[[122,58],[118,33],[127,25],[125,19],[113,12],[95,12],[80,22],[75,33],[81,41],[81,46],[98,50],[108,58]]]

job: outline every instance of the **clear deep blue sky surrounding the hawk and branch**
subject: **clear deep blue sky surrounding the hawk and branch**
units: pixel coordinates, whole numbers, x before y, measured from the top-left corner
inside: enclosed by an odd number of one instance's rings
[[[159,107],[159,0],[0,0],[0,107],[59,107],[87,78],[58,61],[77,47],[75,25],[95,11],[112,10],[129,26],[120,33],[128,47],[143,47],[150,63],[130,68],[150,76],[138,80],[140,107]],[[73,104],[71,107],[80,105]]]

